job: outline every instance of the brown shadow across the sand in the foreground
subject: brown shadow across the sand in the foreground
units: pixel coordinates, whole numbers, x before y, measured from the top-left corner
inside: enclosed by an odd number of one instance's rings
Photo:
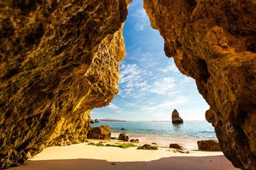
[[[150,162],[107,162],[97,159],[28,161],[11,170],[238,170],[224,156],[168,157]]]

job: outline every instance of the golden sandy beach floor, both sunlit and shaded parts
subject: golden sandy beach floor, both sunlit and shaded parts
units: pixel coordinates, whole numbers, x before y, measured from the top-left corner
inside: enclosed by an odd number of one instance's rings
[[[90,141],[99,142],[99,140]],[[112,142],[116,141],[112,140]],[[189,149],[189,151],[190,154],[182,154],[164,147],[159,147],[159,150],[140,150],[137,147],[122,149],[81,143],[65,147],[48,147],[28,160],[26,166],[13,167],[11,170],[235,170],[222,152],[203,152],[197,149]]]

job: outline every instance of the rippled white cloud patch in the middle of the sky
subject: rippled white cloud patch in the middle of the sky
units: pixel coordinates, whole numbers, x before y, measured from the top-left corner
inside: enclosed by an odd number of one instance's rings
[[[119,96],[135,100],[150,94],[170,97],[181,94],[183,85],[190,81],[187,77],[179,79],[174,75],[170,76],[169,72],[160,72],[152,77],[156,71],[153,73],[150,68],[142,68],[138,64],[120,64]]]

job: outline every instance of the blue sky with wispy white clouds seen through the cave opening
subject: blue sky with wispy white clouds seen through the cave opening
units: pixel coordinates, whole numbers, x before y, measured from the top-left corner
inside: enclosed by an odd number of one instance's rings
[[[110,106],[95,108],[92,119],[171,120],[176,108],[183,120],[206,120],[209,106],[196,83],[164,54],[164,40],[150,26],[143,1],[133,1],[124,24],[127,55],[120,65],[119,94]]]

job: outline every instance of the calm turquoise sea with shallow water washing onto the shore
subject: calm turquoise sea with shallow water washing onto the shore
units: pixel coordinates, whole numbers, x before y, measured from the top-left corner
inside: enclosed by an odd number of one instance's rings
[[[100,122],[92,127],[109,125],[111,136],[118,137],[124,132],[129,139],[139,139],[142,143],[156,142],[169,146],[178,143],[187,149],[197,148],[198,140],[217,139],[213,126],[207,121],[184,121],[183,124],[171,122]],[[120,130],[120,129],[126,130]]]

